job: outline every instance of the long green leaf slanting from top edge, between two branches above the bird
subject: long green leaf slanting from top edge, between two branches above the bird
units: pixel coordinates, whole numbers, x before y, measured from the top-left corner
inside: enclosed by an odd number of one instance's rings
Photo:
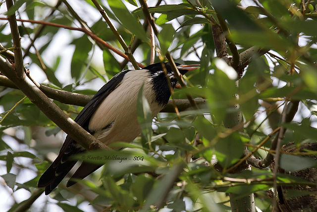
[[[108,0],[107,2],[115,16],[126,29],[142,41],[149,41],[141,23],[130,13],[121,0]]]

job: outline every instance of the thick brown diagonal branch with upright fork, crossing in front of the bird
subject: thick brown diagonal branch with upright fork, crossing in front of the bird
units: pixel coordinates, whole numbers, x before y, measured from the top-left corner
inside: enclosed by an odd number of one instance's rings
[[[13,6],[12,0],[6,1],[8,10]],[[90,135],[76,122],[69,118],[55,105],[24,72],[20,35],[15,14],[8,17],[14,44],[14,61],[11,65],[0,56],[0,71],[4,73],[49,119],[86,149],[109,149],[105,144]]]

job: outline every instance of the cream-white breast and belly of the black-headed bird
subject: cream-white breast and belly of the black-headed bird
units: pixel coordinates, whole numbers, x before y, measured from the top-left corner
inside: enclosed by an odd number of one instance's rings
[[[136,100],[142,84],[144,84],[143,92],[150,104],[153,117],[159,113],[162,107],[155,101],[149,73],[145,70],[129,71],[91,118],[89,130],[96,132],[94,136],[97,139],[106,144],[116,141],[131,142],[141,133],[137,119]],[[113,121],[114,124],[110,129],[104,129]]]

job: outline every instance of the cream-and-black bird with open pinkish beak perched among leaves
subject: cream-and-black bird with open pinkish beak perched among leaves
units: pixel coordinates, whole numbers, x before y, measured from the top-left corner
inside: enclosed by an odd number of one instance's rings
[[[199,68],[198,64],[175,65],[181,74]],[[163,67],[170,80],[167,80]],[[154,118],[170,98],[168,81],[174,88],[177,79],[169,63],[151,64],[141,70],[121,71],[97,91],[74,121],[106,145],[118,141],[131,142],[142,132],[137,118],[139,90],[143,86],[143,93]],[[45,188],[45,194],[49,195],[78,162],[71,156],[85,151],[85,148],[67,135],[58,156],[40,177],[38,187]],[[83,161],[66,187],[74,185],[101,166]]]

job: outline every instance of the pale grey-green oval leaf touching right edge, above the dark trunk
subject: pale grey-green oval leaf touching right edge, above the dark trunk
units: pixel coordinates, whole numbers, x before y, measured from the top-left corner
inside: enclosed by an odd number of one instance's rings
[[[286,171],[295,172],[310,167],[317,167],[317,160],[292,154],[281,154],[279,165]]]

